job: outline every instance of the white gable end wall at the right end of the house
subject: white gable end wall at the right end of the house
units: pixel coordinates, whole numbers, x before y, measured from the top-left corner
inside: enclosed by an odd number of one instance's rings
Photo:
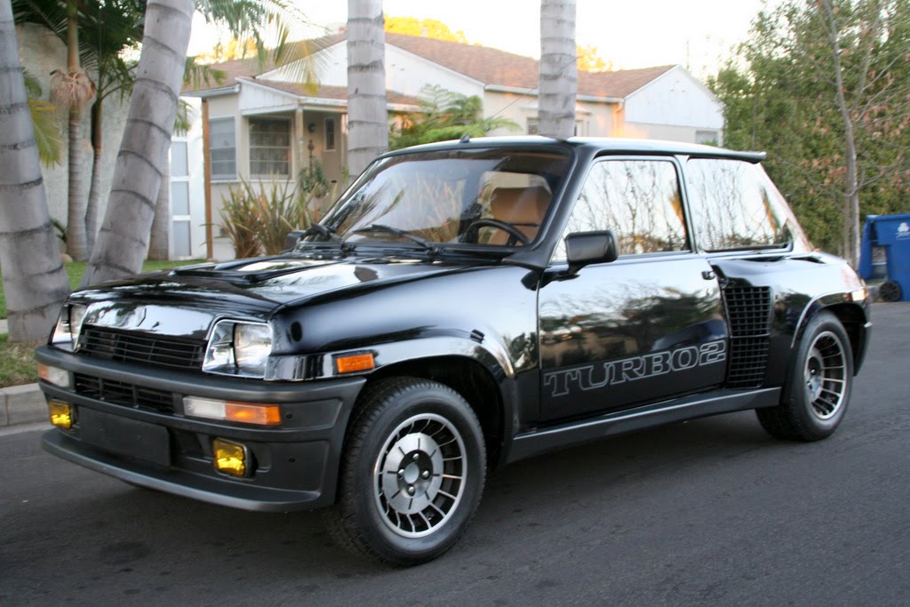
[[[637,137],[633,125],[689,127],[693,137],[696,129],[718,132],[723,129],[720,101],[680,66],[628,96],[624,111],[630,131],[625,137]]]

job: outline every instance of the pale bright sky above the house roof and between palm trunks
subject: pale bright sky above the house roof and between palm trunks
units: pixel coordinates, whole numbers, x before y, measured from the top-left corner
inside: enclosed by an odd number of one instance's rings
[[[618,69],[679,64],[696,76],[714,74],[730,49],[743,41],[765,2],[779,0],[577,0],[576,43],[596,46]],[[319,25],[341,25],[344,0],[298,0]],[[432,18],[480,43],[525,56],[540,56],[539,0],[384,0],[386,15]],[[214,38],[194,22],[190,55]],[[307,35],[319,35],[318,31]]]

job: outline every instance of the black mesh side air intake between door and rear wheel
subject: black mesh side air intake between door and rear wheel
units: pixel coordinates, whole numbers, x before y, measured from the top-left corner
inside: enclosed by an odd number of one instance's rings
[[[768,366],[771,288],[727,285],[723,303],[730,323],[729,388],[758,388]]]

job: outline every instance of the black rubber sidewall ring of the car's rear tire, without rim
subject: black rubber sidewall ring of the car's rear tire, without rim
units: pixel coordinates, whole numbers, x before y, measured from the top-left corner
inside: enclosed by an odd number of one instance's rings
[[[839,346],[844,353],[844,401],[841,403],[833,417],[822,420],[814,414],[812,402],[806,398],[804,389],[804,369],[806,359],[815,342],[815,339],[823,333],[831,333],[838,340]],[[850,339],[841,323],[829,312],[820,312],[806,327],[803,339],[800,342],[799,352],[794,359],[794,368],[790,381],[790,404],[793,414],[799,420],[800,425],[807,430],[814,439],[824,439],[834,433],[837,426],[844,419],[847,406],[850,404],[850,396],[853,390],[853,354],[850,348]]]

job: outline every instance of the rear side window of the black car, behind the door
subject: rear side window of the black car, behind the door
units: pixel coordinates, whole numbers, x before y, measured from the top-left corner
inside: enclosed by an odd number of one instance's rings
[[[795,219],[758,165],[693,158],[686,180],[693,229],[705,250],[784,248],[793,241]]]

